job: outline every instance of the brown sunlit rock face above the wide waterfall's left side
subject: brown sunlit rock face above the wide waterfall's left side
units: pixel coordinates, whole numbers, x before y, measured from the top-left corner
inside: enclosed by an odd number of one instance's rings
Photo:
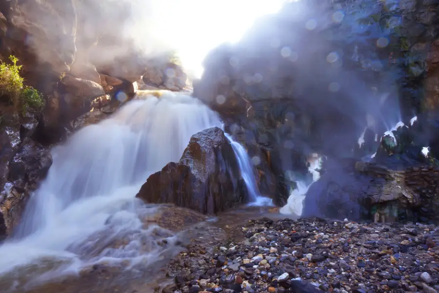
[[[127,35],[132,9],[129,1],[0,4],[0,59],[15,55],[23,65],[25,83],[45,95],[47,106],[37,130],[46,144],[59,142],[72,121],[92,108],[95,98],[106,94],[116,100],[132,98],[150,64],[160,68],[157,83],[162,88],[185,86],[186,74],[169,63],[169,54],[148,59]]]

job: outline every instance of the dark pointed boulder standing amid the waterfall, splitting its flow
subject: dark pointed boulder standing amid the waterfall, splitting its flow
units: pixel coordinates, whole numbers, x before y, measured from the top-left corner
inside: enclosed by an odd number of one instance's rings
[[[193,135],[180,161],[152,174],[136,197],[205,214],[248,200],[233,148],[218,127]]]

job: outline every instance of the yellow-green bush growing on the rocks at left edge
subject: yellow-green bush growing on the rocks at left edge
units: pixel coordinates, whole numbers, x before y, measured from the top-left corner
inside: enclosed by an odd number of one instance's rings
[[[0,61],[0,101],[13,105],[22,114],[30,109],[40,110],[45,102],[43,96],[35,88],[23,85],[22,65],[17,65],[15,56],[9,59],[11,64]]]

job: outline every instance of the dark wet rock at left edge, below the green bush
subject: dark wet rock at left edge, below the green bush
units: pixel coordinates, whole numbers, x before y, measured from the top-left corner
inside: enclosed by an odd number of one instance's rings
[[[30,192],[52,164],[47,148],[32,139],[38,115],[0,106],[0,238],[17,225]]]

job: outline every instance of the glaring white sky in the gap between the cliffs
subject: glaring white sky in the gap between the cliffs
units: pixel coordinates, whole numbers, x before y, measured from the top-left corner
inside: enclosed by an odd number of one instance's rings
[[[176,48],[183,66],[202,73],[207,53],[237,42],[254,21],[276,13],[285,0],[152,0],[147,25],[160,42]]]

